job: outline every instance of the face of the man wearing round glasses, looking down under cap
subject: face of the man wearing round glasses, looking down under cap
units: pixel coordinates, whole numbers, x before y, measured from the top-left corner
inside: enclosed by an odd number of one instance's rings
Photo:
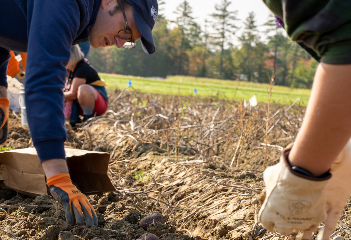
[[[128,40],[121,39],[117,34],[121,29],[126,27],[123,13],[120,11],[110,15],[110,11],[117,5],[117,0],[102,0],[98,15],[93,27],[89,29],[89,42],[92,48],[106,47],[116,45],[121,48]],[[125,6],[124,6],[125,7]],[[137,26],[135,25],[132,8],[124,9],[128,27],[132,31],[132,41],[141,37]]]

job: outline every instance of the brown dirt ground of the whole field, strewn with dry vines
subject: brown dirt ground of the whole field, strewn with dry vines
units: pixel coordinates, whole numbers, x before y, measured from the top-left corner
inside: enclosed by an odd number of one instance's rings
[[[263,104],[244,107],[236,101],[135,91],[109,94],[103,116],[76,129],[66,124],[66,147],[111,153],[108,174],[116,191],[88,196],[99,226],[68,224],[51,196],[32,199],[5,189],[0,190],[3,239],[134,240],[144,233],[160,240],[290,239],[262,228],[258,196],[265,166],[278,162],[302,123],[305,108],[299,102],[289,110],[273,105],[267,124]],[[19,115],[10,118],[2,151],[32,147]],[[155,212],[165,217],[164,224],[145,230],[138,225]],[[346,238],[351,237],[345,225],[350,218],[345,212],[336,228]]]

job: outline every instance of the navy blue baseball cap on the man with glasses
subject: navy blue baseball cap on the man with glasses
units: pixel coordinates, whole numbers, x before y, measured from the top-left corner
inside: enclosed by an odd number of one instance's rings
[[[158,4],[157,0],[126,0],[133,7],[134,21],[141,34],[141,46],[147,54],[155,52],[155,42],[152,36],[152,28],[155,25]]]

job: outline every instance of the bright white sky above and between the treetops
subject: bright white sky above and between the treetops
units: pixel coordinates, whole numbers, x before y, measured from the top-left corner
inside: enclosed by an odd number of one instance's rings
[[[187,0],[189,5],[193,10],[194,20],[203,27],[205,25],[205,19],[212,20],[212,17],[209,14],[214,13],[215,4],[220,4],[221,0]],[[257,25],[263,25],[267,21],[267,17],[270,13],[270,10],[263,3],[262,0],[229,0],[232,3],[228,6],[229,11],[238,11],[237,18],[241,21],[245,20],[249,15],[249,12],[254,12],[256,14]],[[163,8],[163,11],[160,13],[164,14],[168,20],[176,20],[177,14],[173,13],[176,11],[176,8],[184,0],[164,0],[165,4],[161,5],[160,8]],[[237,26],[243,28],[241,21],[237,22]],[[203,28],[202,28],[203,29]],[[259,28],[262,29],[263,28]],[[237,33],[237,36],[240,35],[240,30]]]

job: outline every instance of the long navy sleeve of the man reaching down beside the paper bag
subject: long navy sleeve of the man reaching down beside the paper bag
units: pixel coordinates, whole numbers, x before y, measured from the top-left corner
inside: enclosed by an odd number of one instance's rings
[[[65,158],[67,132],[62,88],[79,23],[77,1],[27,1],[25,101],[28,126],[40,161]]]

